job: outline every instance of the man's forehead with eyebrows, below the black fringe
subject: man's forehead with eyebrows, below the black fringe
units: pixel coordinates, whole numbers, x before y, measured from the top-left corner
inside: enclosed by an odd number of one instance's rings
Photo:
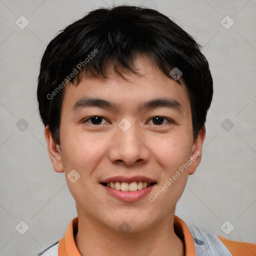
[[[140,75],[124,73],[122,78],[111,70],[104,80],[83,77],[77,83],[68,83],[65,86],[62,108],[77,110],[85,105],[98,105],[116,110],[127,110],[127,107],[138,110],[164,104],[177,110],[185,110],[188,106],[190,108],[188,93],[182,80],[179,84],[166,77],[146,57],[137,57],[134,65]]]

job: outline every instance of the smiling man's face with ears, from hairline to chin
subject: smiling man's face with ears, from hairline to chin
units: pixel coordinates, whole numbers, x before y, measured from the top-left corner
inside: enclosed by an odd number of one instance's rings
[[[53,167],[65,172],[78,216],[114,229],[126,221],[131,231],[174,214],[205,134],[193,141],[185,86],[145,57],[135,64],[142,76],[126,81],[111,73],[65,86],[60,149],[45,128]]]

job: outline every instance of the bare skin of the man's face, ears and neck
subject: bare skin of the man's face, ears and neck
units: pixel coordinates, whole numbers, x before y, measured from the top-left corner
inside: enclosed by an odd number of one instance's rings
[[[76,202],[79,221],[74,240],[82,256],[185,255],[184,243],[173,229],[173,217],[187,176],[194,173],[201,155],[154,202],[148,197],[190,157],[201,152],[205,127],[194,141],[189,98],[183,83],[166,77],[145,56],[137,56],[135,66],[142,76],[130,73],[125,75],[127,81],[111,71],[106,80],[83,78],[75,85],[65,86],[60,146],[45,127],[54,170],[67,175],[75,169],[80,174],[76,182],[66,181]],[[118,107],[72,111],[74,103],[84,96],[103,98]],[[137,108],[139,102],[160,97],[175,99],[181,110]],[[99,124],[88,119],[94,115],[103,117]],[[155,124],[155,116],[167,119]],[[125,132],[117,125],[123,118],[131,124]],[[157,184],[142,199],[124,202],[106,193],[99,183],[115,175],[145,175]],[[126,233],[118,228],[123,221],[130,226]]]

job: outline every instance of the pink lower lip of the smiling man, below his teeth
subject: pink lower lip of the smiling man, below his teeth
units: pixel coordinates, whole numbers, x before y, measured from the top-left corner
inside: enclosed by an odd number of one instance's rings
[[[113,197],[122,201],[138,201],[145,197],[153,189],[154,185],[139,189],[137,191],[122,191],[102,185],[105,190]]]

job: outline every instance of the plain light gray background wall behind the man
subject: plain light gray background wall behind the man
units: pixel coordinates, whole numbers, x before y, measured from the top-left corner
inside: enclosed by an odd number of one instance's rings
[[[52,168],[38,116],[39,63],[58,30],[113,3],[155,8],[203,46],[214,97],[202,162],[189,176],[176,215],[228,239],[256,243],[255,0],[0,0],[0,256],[35,255],[60,239],[76,216],[64,174]],[[29,21],[24,29],[15,24],[21,15]],[[226,15],[234,21],[229,29],[220,23]],[[16,125],[21,118],[28,123],[23,130]],[[29,226],[24,234],[15,229],[21,220]],[[229,234],[220,228],[226,220],[234,226]]]

